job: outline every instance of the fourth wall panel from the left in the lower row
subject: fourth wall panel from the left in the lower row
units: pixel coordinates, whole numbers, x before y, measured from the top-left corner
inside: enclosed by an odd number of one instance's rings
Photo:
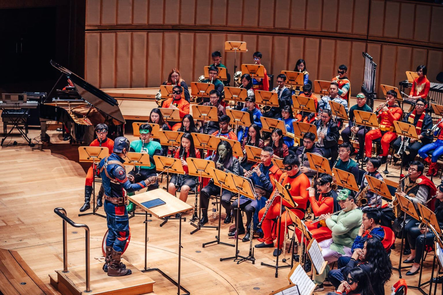
[[[132,73],[131,87],[146,87],[147,80],[148,33],[132,33]],[[128,85],[126,85],[128,87]]]

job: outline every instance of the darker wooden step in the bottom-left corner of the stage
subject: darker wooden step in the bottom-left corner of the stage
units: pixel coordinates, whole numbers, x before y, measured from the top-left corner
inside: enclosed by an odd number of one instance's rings
[[[0,249],[0,294],[53,295],[19,253]]]

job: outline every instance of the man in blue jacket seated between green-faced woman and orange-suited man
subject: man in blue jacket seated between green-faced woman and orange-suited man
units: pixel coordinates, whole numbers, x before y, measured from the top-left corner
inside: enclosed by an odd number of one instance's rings
[[[271,192],[275,188],[274,180],[280,179],[282,171],[272,163],[272,154],[274,152],[269,146],[264,147],[261,150],[260,154],[260,162],[257,165],[254,165],[252,170],[245,173],[245,177],[252,180],[254,187],[256,188],[256,192],[260,191],[260,199],[249,199],[244,195],[240,196],[240,209],[245,210],[246,212],[246,235],[241,241],[249,241],[250,238],[250,226],[253,215],[255,212],[261,210],[264,207],[265,201],[271,195]],[[259,190],[258,190],[258,189]],[[261,195],[261,194],[264,195]],[[237,207],[238,203],[235,200],[231,209],[233,210],[235,222],[237,222]],[[242,214],[239,214],[239,224],[238,224],[238,235],[245,234],[245,226],[243,226],[243,217]],[[258,216],[257,216],[258,218]],[[256,222],[258,223],[258,222]],[[228,234],[229,237],[235,236],[235,231]]]

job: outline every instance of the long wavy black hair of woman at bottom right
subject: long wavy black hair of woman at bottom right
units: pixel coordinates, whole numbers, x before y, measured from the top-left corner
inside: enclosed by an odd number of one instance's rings
[[[366,240],[365,261],[371,264],[371,279],[377,284],[385,284],[392,275],[392,263],[386,253],[385,247],[377,238],[369,238]]]

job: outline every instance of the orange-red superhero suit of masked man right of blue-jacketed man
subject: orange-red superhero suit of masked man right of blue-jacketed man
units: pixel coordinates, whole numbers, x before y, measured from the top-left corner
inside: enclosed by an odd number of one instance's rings
[[[307,176],[300,171],[295,176],[288,176],[288,174],[284,172],[280,176],[279,183],[281,183],[285,188],[288,189],[292,198],[294,199],[295,203],[298,204],[298,206],[293,208],[285,200],[282,201],[280,195],[277,195],[275,197],[274,201],[269,207],[268,213],[266,214],[261,226],[261,229],[263,230],[264,234],[265,244],[273,243],[272,219],[280,215],[280,207],[282,203],[283,206],[288,207],[288,209],[291,210],[291,212],[295,213],[295,215],[297,215],[297,217],[299,217],[300,219],[304,217],[306,211],[306,205],[308,199],[307,198],[308,192],[306,191],[306,189],[310,186],[310,182]],[[274,195],[275,192],[276,190],[274,190],[271,195]],[[264,211],[266,211],[266,207],[262,208],[258,213],[259,220],[261,220],[261,218],[263,217]],[[280,225],[280,240],[279,240],[280,245],[276,245],[276,247],[278,246],[278,249],[281,249],[283,246],[285,226],[288,226],[290,224],[292,224],[292,221],[288,215],[288,212],[283,212],[281,216],[281,225]]]

